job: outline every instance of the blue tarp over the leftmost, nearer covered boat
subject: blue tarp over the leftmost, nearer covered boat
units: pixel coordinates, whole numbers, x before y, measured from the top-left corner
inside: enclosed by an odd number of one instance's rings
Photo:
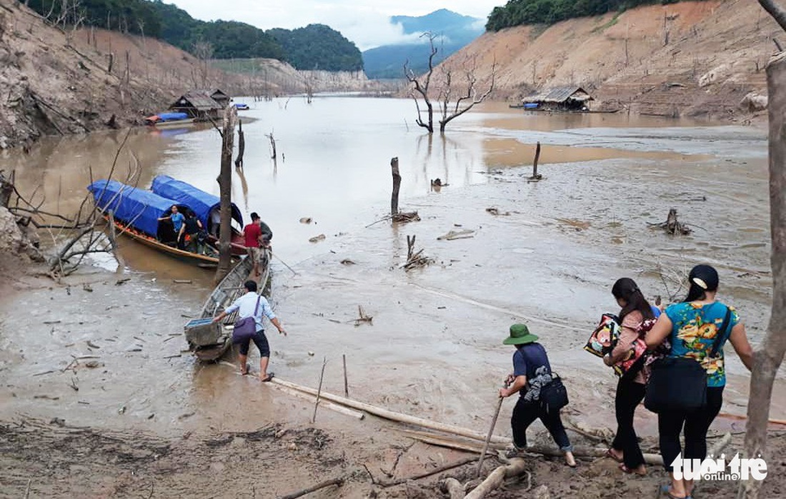
[[[185,204],[116,180],[97,180],[88,185],[87,190],[93,193],[98,209],[104,212],[112,210],[119,221],[151,237],[158,236],[159,217],[168,215],[173,204],[178,207]]]

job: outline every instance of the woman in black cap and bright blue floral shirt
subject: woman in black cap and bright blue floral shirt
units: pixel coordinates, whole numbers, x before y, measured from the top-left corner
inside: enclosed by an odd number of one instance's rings
[[[725,362],[723,346],[728,339],[740,360],[751,370],[753,349],[745,334],[745,325],[732,306],[719,302],[718,271],[708,265],[693,267],[688,276],[690,288],[685,300],[670,305],[658,317],[656,324],[647,332],[645,342],[652,349],[669,339],[670,357],[692,358],[699,361],[707,370],[707,403],[702,409],[692,413],[669,411],[658,413],[658,433],[660,454],[663,464],[669,471],[670,486],[663,490],[668,497],[691,497],[693,481],[674,479],[671,463],[681,453],[683,459],[703,460],[707,457],[707,430],[718,416],[723,404],[725,387]],[[730,310],[729,325],[720,331],[726,310]],[[730,331],[730,333],[729,333]],[[724,334],[718,347],[718,354],[709,356],[718,334]],[[685,428],[685,452],[680,445],[680,433]]]

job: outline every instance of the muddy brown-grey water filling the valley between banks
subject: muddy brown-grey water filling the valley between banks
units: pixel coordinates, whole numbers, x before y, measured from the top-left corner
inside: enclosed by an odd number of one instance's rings
[[[512,322],[526,321],[568,380],[571,418],[608,424],[615,379],[581,347],[597,317],[615,311],[616,278],[636,278],[651,297],[681,295],[687,270],[711,262],[721,272],[722,299],[737,306],[755,343],[766,327],[763,130],[487,105],[451,123],[445,137],[429,138],[411,123],[410,101],[341,97],[255,103],[241,116],[248,118],[246,157],[233,199],[274,230],[272,302],[290,333],[270,335],[277,376],[315,386],[326,358],[325,388],[340,393],[346,354],[352,397],[483,431],[509,371],[512,350],[501,339]],[[41,185],[50,211],[69,213],[83,199],[88,167],[96,178],[107,174],[123,137],[45,141],[29,156],[6,153],[2,167],[17,169],[23,192]],[[527,183],[537,141],[545,179]],[[170,174],[218,193],[219,147],[210,128],[139,130],[118,170],[126,174],[138,160],[141,186]],[[422,220],[371,225],[389,211],[393,156],[402,172],[399,206]],[[434,191],[434,178],[449,185]],[[691,224],[691,235],[652,229],[670,207]],[[302,217],[314,222],[299,223]],[[450,230],[472,237],[437,239]],[[325,240],[308,241],[319,234]],[[417,237],[432,265],[400,268],[407,236]],[[156,431],[306,419],[303,407],[236,376],[230,365],[177,357],[185,345],[171,335],[199,309],[210,273],[130,241],[121,252],[131,277],[124,284],[97,268],[70,289],[43,281],[3,298],[2,416]],[[183,278],[193,283],[172,282]],[[355,325],[358,305],[373,316],[371,325]],[[101,366],[61,372],[84,355]],[[724,410],[744,413],[747,376],[733,353],[729,371]],[[786,415],[782,392],[774,417]],[[652,433],[652,418],[642,419]]]

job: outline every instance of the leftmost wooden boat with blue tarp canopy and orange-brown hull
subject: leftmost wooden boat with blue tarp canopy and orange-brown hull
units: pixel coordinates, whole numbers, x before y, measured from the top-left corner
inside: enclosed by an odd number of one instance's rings
[[[159,220],[171,213],[173,205],[183,213],[191,211],[188,205],[114,180],[97,180],[87,189],[93,193],[101,216],[115,224],[121,235],[196,266],[209,268],[219,264],[219,253],[215,247],[205,244],[202,253],[182,250],[177,247],[171,222]]]

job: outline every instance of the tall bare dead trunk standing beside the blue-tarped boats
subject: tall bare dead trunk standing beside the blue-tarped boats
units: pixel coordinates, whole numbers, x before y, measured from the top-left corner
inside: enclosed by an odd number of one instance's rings
[[[235,139],[235,122],[237,108],[227,106],[224,111],[224,123],[221,145],[221,174],[219,189],[221,191],[221,226],[219,229],[219,266],[215,270],[215,281],[221,281],[230,272],[232,263],[232,149]]]

